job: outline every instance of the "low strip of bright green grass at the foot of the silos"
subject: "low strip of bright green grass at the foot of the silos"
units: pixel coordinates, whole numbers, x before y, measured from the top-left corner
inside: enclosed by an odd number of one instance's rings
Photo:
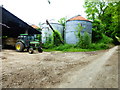
[[[84,49],[77,47],[76,45],[59,45],[59,46],[53,46],[53,45],[45,45],[43,48],[43,51],[51,52],[51,51],[62,51],[62,52],[87,52],[87,51],[96,51],[96,50],[103,50],[108,49],[109,46],[104,43],[92,43],[89,45],[89,48]]]

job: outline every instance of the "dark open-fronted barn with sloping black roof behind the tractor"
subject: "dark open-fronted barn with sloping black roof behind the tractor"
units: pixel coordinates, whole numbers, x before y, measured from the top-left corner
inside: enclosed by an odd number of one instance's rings
[[[0,26],[2,26],[3,45],[10,40],[15,42],[20,34],[41,34],[41,32],[31,27],[5,8],[0,7],[0,10],[2,14],[2,21]],[[8,40],[8,38],[12,39]]]

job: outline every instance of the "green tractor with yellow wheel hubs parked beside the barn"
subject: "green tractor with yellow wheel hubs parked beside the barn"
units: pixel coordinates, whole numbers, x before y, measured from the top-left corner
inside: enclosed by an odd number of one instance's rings
[[[35,49],[42,52],[41,44],[35,35],[21,34],[15,44],[16,51],[22,52],[25,49],[32,54]]]

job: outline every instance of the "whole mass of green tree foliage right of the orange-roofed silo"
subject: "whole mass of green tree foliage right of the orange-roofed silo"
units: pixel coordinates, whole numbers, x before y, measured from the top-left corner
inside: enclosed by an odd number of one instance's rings
[[[120,17],[120,1],[119,2],[85,2],[84,7],[88,19],[93,21],[93,42],[99,42],[103,39],[102,34],[113,39],[114,44],[118,44],[120,38],[119,17]]]

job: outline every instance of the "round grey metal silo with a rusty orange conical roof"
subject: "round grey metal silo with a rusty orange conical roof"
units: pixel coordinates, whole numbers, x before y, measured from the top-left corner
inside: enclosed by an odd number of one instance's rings
[[[66,29],[65,29],[65,41],[67,44],[76,44],[78,42],[78,38],[75,33],[78,33],[76,27],[78,24],[82,25],[83,30],[81,34],[83,35],[84,32],[88,32],[90,36],[92,36],[92,23],[91,21],[83,18],[82,16],[78,15],[75,16],[66,22]]]

